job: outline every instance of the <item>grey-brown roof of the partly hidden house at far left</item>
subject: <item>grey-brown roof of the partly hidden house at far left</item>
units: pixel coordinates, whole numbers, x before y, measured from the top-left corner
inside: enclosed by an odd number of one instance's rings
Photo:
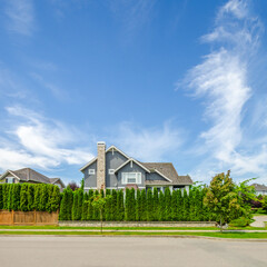
[[[60,178],[48,178],[47,176],[31,169],[31,168],[23,168],[18,170],[7,170],[1,178],[6,177],[8,174],[17,177],[19,180],[22,181],[36,181],[42,184],[52,184],[55,185],[57,181],[60,181],[61,185],[65,187],[65,184],[61,181]]]

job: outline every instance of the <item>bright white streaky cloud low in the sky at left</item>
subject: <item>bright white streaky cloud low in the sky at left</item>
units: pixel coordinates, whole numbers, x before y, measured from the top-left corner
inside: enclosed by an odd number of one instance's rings
[[[77,146],[82,135],[76,129],[21,107],[9,107],[7,111],[14,126],[2,134],[0,169],[49,169],[62,164],[82,165],[93,157],[87,147]]]

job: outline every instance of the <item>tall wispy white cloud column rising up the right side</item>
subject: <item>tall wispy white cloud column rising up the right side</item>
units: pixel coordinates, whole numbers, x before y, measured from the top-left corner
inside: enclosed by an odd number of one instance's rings
[[[266,171],[265,144],[256,154],[246,150],[243,128],[245,107],[254,93],[249,61],[258,56],[261,32],[263,23],[251,13],[249,2],[230,0],[219,9],[214,30],[201,38],[211,44],[212,52],[189,70],[185,80],[194,96],[205,100],[204,118],[210,123],[200,135],[200,142],[205,142],[200,149],[209,155],[209,162],[197,168],[216,165],[218,171],[230,168],[236,176]]]

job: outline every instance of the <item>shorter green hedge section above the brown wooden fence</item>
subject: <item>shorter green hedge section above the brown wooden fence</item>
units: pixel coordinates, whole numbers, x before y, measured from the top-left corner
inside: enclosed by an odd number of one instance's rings
[[[21,211],[57,211],[58,186],[44,184],[0,184],[0,209]]]

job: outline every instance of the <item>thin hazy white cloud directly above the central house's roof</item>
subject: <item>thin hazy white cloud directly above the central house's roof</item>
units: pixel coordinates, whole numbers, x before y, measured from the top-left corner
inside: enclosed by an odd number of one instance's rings
[[[141,128],[123,122],[116,129],[112,141],[130,157],[144,161],[160,161],[177,154],[184,141],[180,130],[166,122],[160,128]]]

